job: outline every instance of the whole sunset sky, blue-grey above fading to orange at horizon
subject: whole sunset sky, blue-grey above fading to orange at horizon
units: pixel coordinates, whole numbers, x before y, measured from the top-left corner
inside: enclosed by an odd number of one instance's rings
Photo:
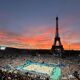
[[[0,0],[0,45],[50,49],[56,16],[63,47],[80,50],[80,0]]]

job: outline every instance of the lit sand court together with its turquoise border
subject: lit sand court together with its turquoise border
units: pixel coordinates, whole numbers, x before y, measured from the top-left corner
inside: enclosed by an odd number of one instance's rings
[[[47,64],[27,60],[25,64],[16,67],[22,72],[35,75],[47,75],[50,80],[61,80],[61,69],[56,64]]]

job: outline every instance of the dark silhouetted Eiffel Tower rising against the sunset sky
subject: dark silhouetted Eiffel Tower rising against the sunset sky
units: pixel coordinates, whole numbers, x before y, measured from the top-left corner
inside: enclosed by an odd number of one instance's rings
[[[56,17],[56,34],[54,38],[54,44],[51,50],[52,50],[52,53],[56,53],[56,54],[58,53],[59,56],[62,55],[62,52],[64,50],[59,37],[58,17]]]

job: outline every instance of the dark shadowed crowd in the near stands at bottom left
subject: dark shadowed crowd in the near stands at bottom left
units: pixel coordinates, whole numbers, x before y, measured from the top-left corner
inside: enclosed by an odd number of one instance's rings
[[[28,73],[21,74],[20,71],[0,70],[0,80],[49,80],[48,77],[34,76]]]

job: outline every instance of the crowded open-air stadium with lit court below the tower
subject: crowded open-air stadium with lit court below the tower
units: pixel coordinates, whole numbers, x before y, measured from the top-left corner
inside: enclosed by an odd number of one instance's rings
[[[73,73],[77,71],[80,74],[80,58],[62,59],[50,54],[20,52],[0,50],[1,80],[78,80]]]

